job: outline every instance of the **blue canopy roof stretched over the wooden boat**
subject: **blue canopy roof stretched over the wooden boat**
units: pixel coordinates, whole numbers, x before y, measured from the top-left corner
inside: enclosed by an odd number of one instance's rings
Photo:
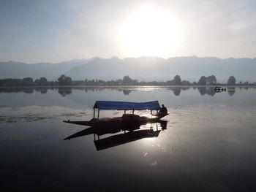
[[[96,101],[94,109],[99,110],[160,110],[158,101],[124,102],[124,101]]]

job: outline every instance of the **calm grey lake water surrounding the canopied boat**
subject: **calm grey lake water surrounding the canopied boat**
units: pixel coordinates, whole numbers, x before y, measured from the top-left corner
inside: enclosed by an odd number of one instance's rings
[[[0,190],[255,191],[255,96],[256,88],[1,88]],[[137,128],[156,137],[97,148],[94,139],[132,133],[83,135],[88,127],[63,122],[90,120],[97,100],[158,100],[170,115]]]

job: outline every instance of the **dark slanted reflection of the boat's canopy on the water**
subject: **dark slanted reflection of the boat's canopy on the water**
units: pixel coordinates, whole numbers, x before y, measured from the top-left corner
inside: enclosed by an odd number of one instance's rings
[[[116,147],[127,142],[134,142],[138,139],[158,137],[160,130],[154,131],[152,129],[144,129],[139,131],[132,131],[124,134],[113,135],[104,139],[94,140],[97,150],[105,150],[109,147]]]

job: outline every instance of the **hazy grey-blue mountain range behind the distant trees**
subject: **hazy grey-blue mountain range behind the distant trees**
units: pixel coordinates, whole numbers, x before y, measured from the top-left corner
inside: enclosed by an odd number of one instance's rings
[[[117,80],[129,75],[132,79],[172,80],[176,74],[182,80],[198,81],[202,75],[214,74],[217,82],[227,82],[230,75],[237,82],[256,82],[256,58],[91,58],[76,59],[57,64],[24,64],[15,61],[0,62],[0,78],[46,77],[57,80],[61,74],[72,80]]]

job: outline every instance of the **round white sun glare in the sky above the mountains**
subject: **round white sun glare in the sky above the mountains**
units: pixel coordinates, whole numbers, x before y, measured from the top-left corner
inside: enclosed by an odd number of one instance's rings
[[[178,20],[166,9],[140,7],[118,28],[118,40],[126,56],[173,55],[181,42]]]

